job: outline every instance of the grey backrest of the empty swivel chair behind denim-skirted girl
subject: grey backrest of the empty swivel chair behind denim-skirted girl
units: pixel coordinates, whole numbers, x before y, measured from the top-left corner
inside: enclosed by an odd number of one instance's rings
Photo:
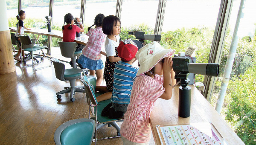
[[[61,81],[68,81],[64,79],[64,72],[65,72],[65,64],[61,63],[58,59],[54,58],[51,59],[54,69],[55,69],[55,76]]]

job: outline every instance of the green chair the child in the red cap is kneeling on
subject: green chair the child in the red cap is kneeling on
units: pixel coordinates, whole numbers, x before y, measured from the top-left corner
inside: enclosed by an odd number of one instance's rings
[[[102,139],[109,139],[109,138],[114,138],[114,137],[120,137],[120,127],[116,122],[122,122],[123,119],[110,119],[107,116],[102,116],[102,110],[111,102],[111,99],[97,102],[96,97],[103,94],[100,92],[94,93],[94,88],[96,87],[96,78],[93,77],[86,77],[85,73],[81,73],[81,82],[84,84],[84,89],[86,90],[86,99],[87,103],[89,104],[89,118],[90,118],[90,104],[96,105],[94,112],[95,112],[95,117],[91,117],[90,119],[95,120],[95,145],[97,140],[97,129],[102,128],[105,125],[108,125],[108,127],[111,127],[111,125],[116,128],[116,134],[117,136],[113,137],[105,137]],[[93,85],[92,85],[93,84]],[[93,106],[92,106],[93,107]]]

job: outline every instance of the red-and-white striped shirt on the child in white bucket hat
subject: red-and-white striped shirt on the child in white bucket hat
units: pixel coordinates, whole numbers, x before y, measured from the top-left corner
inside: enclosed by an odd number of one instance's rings
[[[155,78],[144,74],[137,76],[131,90],[131,102],[121,125],[120,133],[123,137],[137,143],[150,140],[150,113],[154,102],[163,94],[164,90],[163,78],[159,75],[155,75]]]

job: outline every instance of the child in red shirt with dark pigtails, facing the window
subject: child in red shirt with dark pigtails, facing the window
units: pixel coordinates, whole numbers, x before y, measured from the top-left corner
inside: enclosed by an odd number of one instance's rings
[[[79,23],[79,26],[74,25],[74,17],[72,14],[68,13],[64,16],[64,24],[67,23],[67,25],[62,26],[62,34],[63,34],[63,41],[64,42],[74,42],[76,38],[76,32],[84,32],[84,27],[82,22],[78,17],[76,17],[77,22]],[[81,49],[80,47],[77,47],[76,51],[78,49]],[[72,61],[70,61],[71,67],[73,67]]]

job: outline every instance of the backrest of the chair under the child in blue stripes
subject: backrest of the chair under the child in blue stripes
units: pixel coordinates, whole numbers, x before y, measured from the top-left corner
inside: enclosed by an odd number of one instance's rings
[[[93,85],[90,84],[84,72],[81,73],[81,82],[84,84],[87,103],[90,105],[90,101],[91,101],[92,104],[94,105],[98,104],[96,100],[96,96],[93,91],[94,90]]]

